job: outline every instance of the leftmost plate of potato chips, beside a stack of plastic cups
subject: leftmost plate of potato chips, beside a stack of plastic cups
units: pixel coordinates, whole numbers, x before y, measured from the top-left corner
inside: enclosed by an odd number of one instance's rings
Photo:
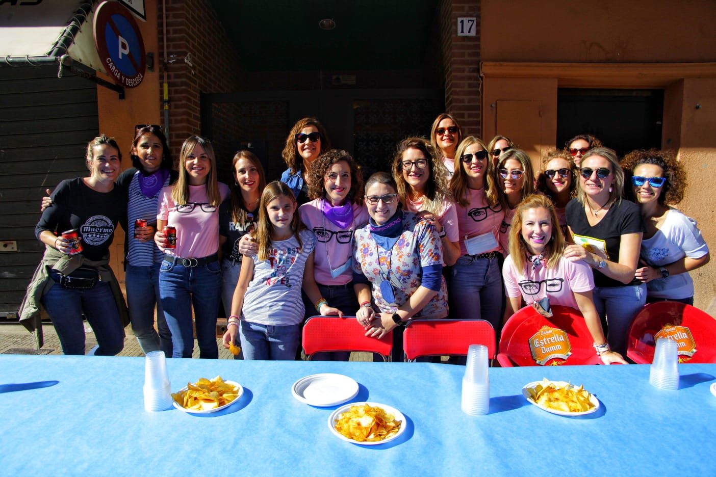
[[[196,383],[187,383],[177,393],[172,393],[174,407],[185,413],[208,414],[228,408],[243,395],[241,384],[223,380],[199,378]]]

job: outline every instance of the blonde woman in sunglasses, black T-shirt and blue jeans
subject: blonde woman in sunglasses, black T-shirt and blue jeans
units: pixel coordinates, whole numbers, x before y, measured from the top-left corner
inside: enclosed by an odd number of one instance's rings
[[[647,299],[647,285],[634,277],[644,223],[639,206],[623,200],[623,192],[624,171],[616,152],[589,149],[582,157],[577,196],[567,204],[575,245],[564,248],[564,257],[584,260],[594,269],[594,305],[608,325],[609,346],[622,355],[629,325]]]

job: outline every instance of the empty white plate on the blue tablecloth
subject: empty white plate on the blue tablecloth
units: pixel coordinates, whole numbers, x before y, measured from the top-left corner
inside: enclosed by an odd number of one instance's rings
[[[297,380],[291,393],[301,403],[328,407],[354,398],[358,394],[358,383],[342,374],[314,374]]]

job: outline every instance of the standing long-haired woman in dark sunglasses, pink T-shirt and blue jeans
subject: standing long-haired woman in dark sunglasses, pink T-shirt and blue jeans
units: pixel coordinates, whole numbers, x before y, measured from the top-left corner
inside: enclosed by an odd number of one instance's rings
[[[499,230],[505,213],[485,144],[474,136],[465,137],[456,154],[460,167],[450,180],[450,192],[457,202],[460,257],[450,281],[453,316],[488,320],[499,330]]]

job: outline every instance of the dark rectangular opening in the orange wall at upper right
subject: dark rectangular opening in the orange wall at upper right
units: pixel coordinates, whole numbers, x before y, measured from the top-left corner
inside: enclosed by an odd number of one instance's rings
[[[557,147],[593,134],[619,157],[662,147],[662,89],[569,89],[557,93]]]

